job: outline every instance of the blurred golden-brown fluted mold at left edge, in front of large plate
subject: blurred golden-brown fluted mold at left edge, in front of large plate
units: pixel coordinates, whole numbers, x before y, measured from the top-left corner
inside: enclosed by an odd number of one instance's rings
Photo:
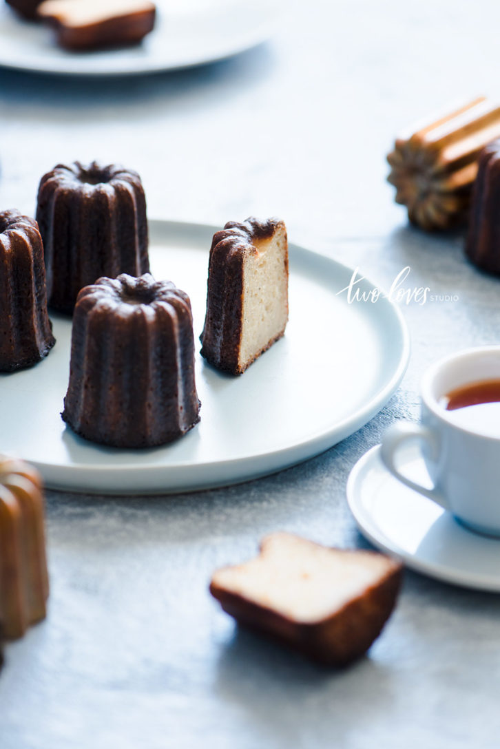
[[[0,456],[0,622],[7,640],[46,615],[44,505],[38,473]]]

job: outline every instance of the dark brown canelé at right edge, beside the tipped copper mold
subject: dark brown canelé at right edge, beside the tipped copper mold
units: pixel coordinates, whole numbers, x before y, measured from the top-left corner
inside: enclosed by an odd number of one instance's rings
[[[500,139],[481,151],[478,165],[466,255],[487,273],[500,275]]]

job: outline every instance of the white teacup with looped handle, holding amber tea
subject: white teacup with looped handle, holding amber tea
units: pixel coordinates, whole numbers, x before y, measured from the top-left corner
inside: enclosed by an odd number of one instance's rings
[[[382,440],[385,467],[406,486],[489,536],[500,536],[500,422],[498,431],[457,423],[457,411],[440,399],[481,380],[500,380],[500,346],[461,351],[427,369],[421,382],[421,424],[400,422]],[[421,442],[433,488],[421,486],[397,467],[397,452],[409,440]]]

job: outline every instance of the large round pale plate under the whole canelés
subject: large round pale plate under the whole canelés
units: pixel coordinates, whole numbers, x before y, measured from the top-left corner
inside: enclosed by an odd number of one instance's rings
[[[151,270],[187,291],[196,343],[205,318],[213,226],[151,222]],[[61,420],[71,325],[51,315],[57,343],[32,369],[0,375],[0,452],[36,465],[52,488],[165,494],[237,483],[304,461],[364,425],[400,383],[409,338],[388,300],[348,304],[352,270],[290,246],[286,335],[244,375],[199,356],[201,422],[175,443],[112,449],[82,440]],[[372,285],[366,280],[362,288]]]

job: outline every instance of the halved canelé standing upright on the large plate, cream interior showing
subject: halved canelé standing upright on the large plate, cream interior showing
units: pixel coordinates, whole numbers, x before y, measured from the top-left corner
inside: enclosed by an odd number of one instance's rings
[[[208,261],[202,356],[241,375],[280,339],[288,321],[288,241],[279,219],[226,223]]]

